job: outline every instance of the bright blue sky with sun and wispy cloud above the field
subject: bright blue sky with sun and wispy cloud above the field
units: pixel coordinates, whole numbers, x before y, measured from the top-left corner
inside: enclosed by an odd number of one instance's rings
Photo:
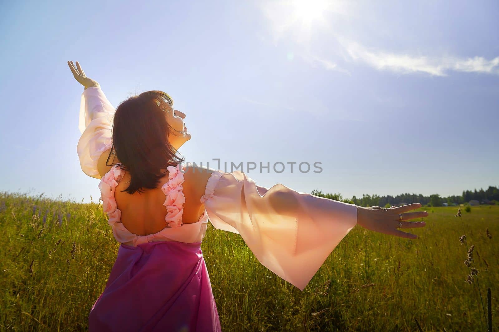
[[[268,162],[247,173],[262,186],[499,185],[497,1],[69,2],[2,5],[2,191],[98,200],[76,153],[83,87],[68,60],[115,107],[167,92],[187,114],[187,161]],[[322,172],[276,173],[279,161]]]

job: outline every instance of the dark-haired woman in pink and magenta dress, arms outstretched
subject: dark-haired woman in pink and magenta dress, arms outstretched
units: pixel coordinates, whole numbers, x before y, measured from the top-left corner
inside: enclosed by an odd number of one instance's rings
[[[428,216],[409,212],[421,204],[363,208],[282,184],[261,187],[241,171],[181,166],[177,150],[191,134],[170,96],[144,92],[115,110],[78,62],[68,65],[85,88],[80,165],[101,180],[103,210],[121,243],[90,331],[221,331],[200,248],[208,221],[241,234],[262,265],[300,290],[356,224],[405,238],[417,236],[397,228],[425,225],[407,221]]]

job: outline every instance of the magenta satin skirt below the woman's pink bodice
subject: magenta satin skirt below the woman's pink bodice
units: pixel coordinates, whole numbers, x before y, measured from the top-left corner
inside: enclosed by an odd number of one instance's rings
[[[221,331],[200,245],[121,244],[89,331]]]

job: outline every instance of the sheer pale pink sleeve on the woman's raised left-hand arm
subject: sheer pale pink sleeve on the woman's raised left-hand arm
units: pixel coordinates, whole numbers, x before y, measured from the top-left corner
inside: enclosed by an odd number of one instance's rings
[[[101,179],[97,171],[99,157],[112,145],[114,112],[100,88],[90,87],[81,94],[78,129],[82,135],[76,150],[81,170],[96,179]]]

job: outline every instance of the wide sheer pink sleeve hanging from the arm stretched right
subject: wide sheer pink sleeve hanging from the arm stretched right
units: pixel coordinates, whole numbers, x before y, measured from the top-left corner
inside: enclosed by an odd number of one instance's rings
[[[215,228],[241,234],[263,266],[301,291],[357,224],[356,205],[257,186],[241,171],[215,171],[201,202]]]

